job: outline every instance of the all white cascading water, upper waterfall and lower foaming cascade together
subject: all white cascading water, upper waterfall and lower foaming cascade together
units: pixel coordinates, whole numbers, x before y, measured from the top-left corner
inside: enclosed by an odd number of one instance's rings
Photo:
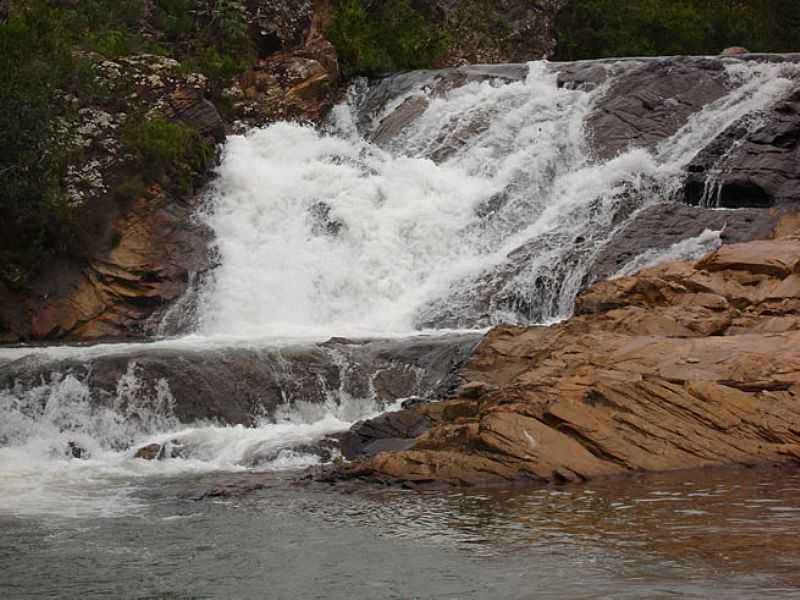
[[[531,63],[522,79],[482,77],[455,89],[430,74],[407,76],[377,111],[353,94],[324,131],[279,123],[230,138],[203,217],[219,266],[200,291],[197,331],[159,347],[392,337],[568,316],[599,248],[637,210],[670,199],[719,132],[745,117],[756,126],[797,71],[728,65],[729,93],[669,139],[596,161],[587,115],[635,65],[601,65],[607,83],[588,91],[560,86],[547,63]],[[408,118],[390,131],[398,112]],[[719,232],[707,231],[619,274],[718,243]],[[105,352],[119,348],[39,351],[86,360]],[[0,361],[25,353],[0,351]],[[344,380],[350,366],[337,364]],[[368,392],[321,396],[255,427],[187,427],[169,385],[144,385],[135,369],[104,408],[70,373],[12,383],[0,391],[0,512],[111,514],[135,505],[128,486],[137,477],[311,464],[318,457],[292,448],[383,408]],[[133,458],[151,442],[174,443],[183,457]],[[83,460],[71,458],[73,448]]]

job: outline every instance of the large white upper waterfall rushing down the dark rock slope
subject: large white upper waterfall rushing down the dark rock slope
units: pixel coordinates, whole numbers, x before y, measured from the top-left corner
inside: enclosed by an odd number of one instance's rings
[[[389,335],[569,316],[597,248],[672,198],[705,143],[793,85],[782,65],[728,65],[730,92],[675,135],[595,160],[586,117],[635,65],[605,65],[608,82],[588,91],[560,86],[546,62],[449,91],[404,76],[374,114],[362,90],[326,131],[280,123],[230,139],[206,215],[220,264],[199,331]],[[380,140],[395,112],[412,118]]]

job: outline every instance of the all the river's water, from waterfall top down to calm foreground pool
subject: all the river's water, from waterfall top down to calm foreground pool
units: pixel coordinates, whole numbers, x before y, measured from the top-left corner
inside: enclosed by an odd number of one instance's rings
[[[633,65],[603,66],[608,82]],[[561,87],[546,63],[445,91],[412,74],[373,113],[354,89],[324,130],[232,137],[198,215],[218,266],[176,306],[192,334],[0,349],[0,598],[800,598],[798,475],[431,494],[295,481],[325,460],[306,446],[402,398],[379,400],[377,371],[359,394],[323,378],[292,394],[303,366],[281,347],[569,316],[593,252],[669,200],[717,133],[745,117],[757,127],[798,71],[725,68],[727,95],[658,147],[605,162],[583,124],[608,82]],[[382,120],[420,102],[379,143]],[[719,243],[706,231],[621,272]],[[255,402],[250,426],[181,421],[176,404],[219,399],[199,386],[187,398],[173,376],[189,353],[224,361],[227,348],[274,349],[283,404]],[[137,364],[159,352],[169,368]],[[359,367],[325,352],[340,382]],[[111,390],[94,384],[98,357],[127,361]],[[134,457],[152,442],[181,453]],[[232,478],[264,487],[199,499]]]

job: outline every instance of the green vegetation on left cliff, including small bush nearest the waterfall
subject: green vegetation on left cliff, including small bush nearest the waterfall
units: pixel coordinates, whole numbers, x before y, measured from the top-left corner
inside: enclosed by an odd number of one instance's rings
[[[96,66],[133,54],[171,57],[204,74],[220,96],[254,60],[244,11],[233,0],[13,4],[0,21],[0,281],[22,285],[48,256],[80,254],[81,239],[91,236],[84,230],[93,217],[64,187],[81,152],[69,143],[77,113],[128,109]],[[168,179],[177,189],[203,169],[209,152],[196,131],[179,124],[136,117],[124,133],[124,150],[139,159],[144,178]]]

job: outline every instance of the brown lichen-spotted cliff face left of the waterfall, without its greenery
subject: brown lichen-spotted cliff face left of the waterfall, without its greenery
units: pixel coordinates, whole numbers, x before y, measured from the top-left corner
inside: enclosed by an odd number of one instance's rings
[[[206,4],[196,2],[198,15]],[[4,14],[7,8],[4,3]],[[171,50],[174,42],[159,29],[153,6],[146,9],[137,35]],[[93,65],[92,85],[107,92],[75,98],[69,107],[77,122],[67,140],[64,188],[91,234],[80,252],[56,255],[20,285],[0,278],[0,342],[154,333],[157,316],[209,267],[209,234],[193,219],[215,163],[208,150],[231,130],[315,120],[332,105],[339,75],[336,53],[322,35],[325,3],[252,0],[242,10],[256,56],[213,94],[204,75],[165,56],[107,60],[76,50],[76,60]],[[157,181],[148,178],[147,164],[126,139],[142,117],[197,132],[192,146],[202,159],[181,165],[180,173],[167,169]]]

